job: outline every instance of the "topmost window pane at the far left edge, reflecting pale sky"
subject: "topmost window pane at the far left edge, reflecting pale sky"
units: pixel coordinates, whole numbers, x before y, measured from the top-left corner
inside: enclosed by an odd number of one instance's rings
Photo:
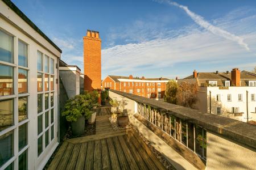
[[[13,37],[0,30],[0,60],[14,63]]]

